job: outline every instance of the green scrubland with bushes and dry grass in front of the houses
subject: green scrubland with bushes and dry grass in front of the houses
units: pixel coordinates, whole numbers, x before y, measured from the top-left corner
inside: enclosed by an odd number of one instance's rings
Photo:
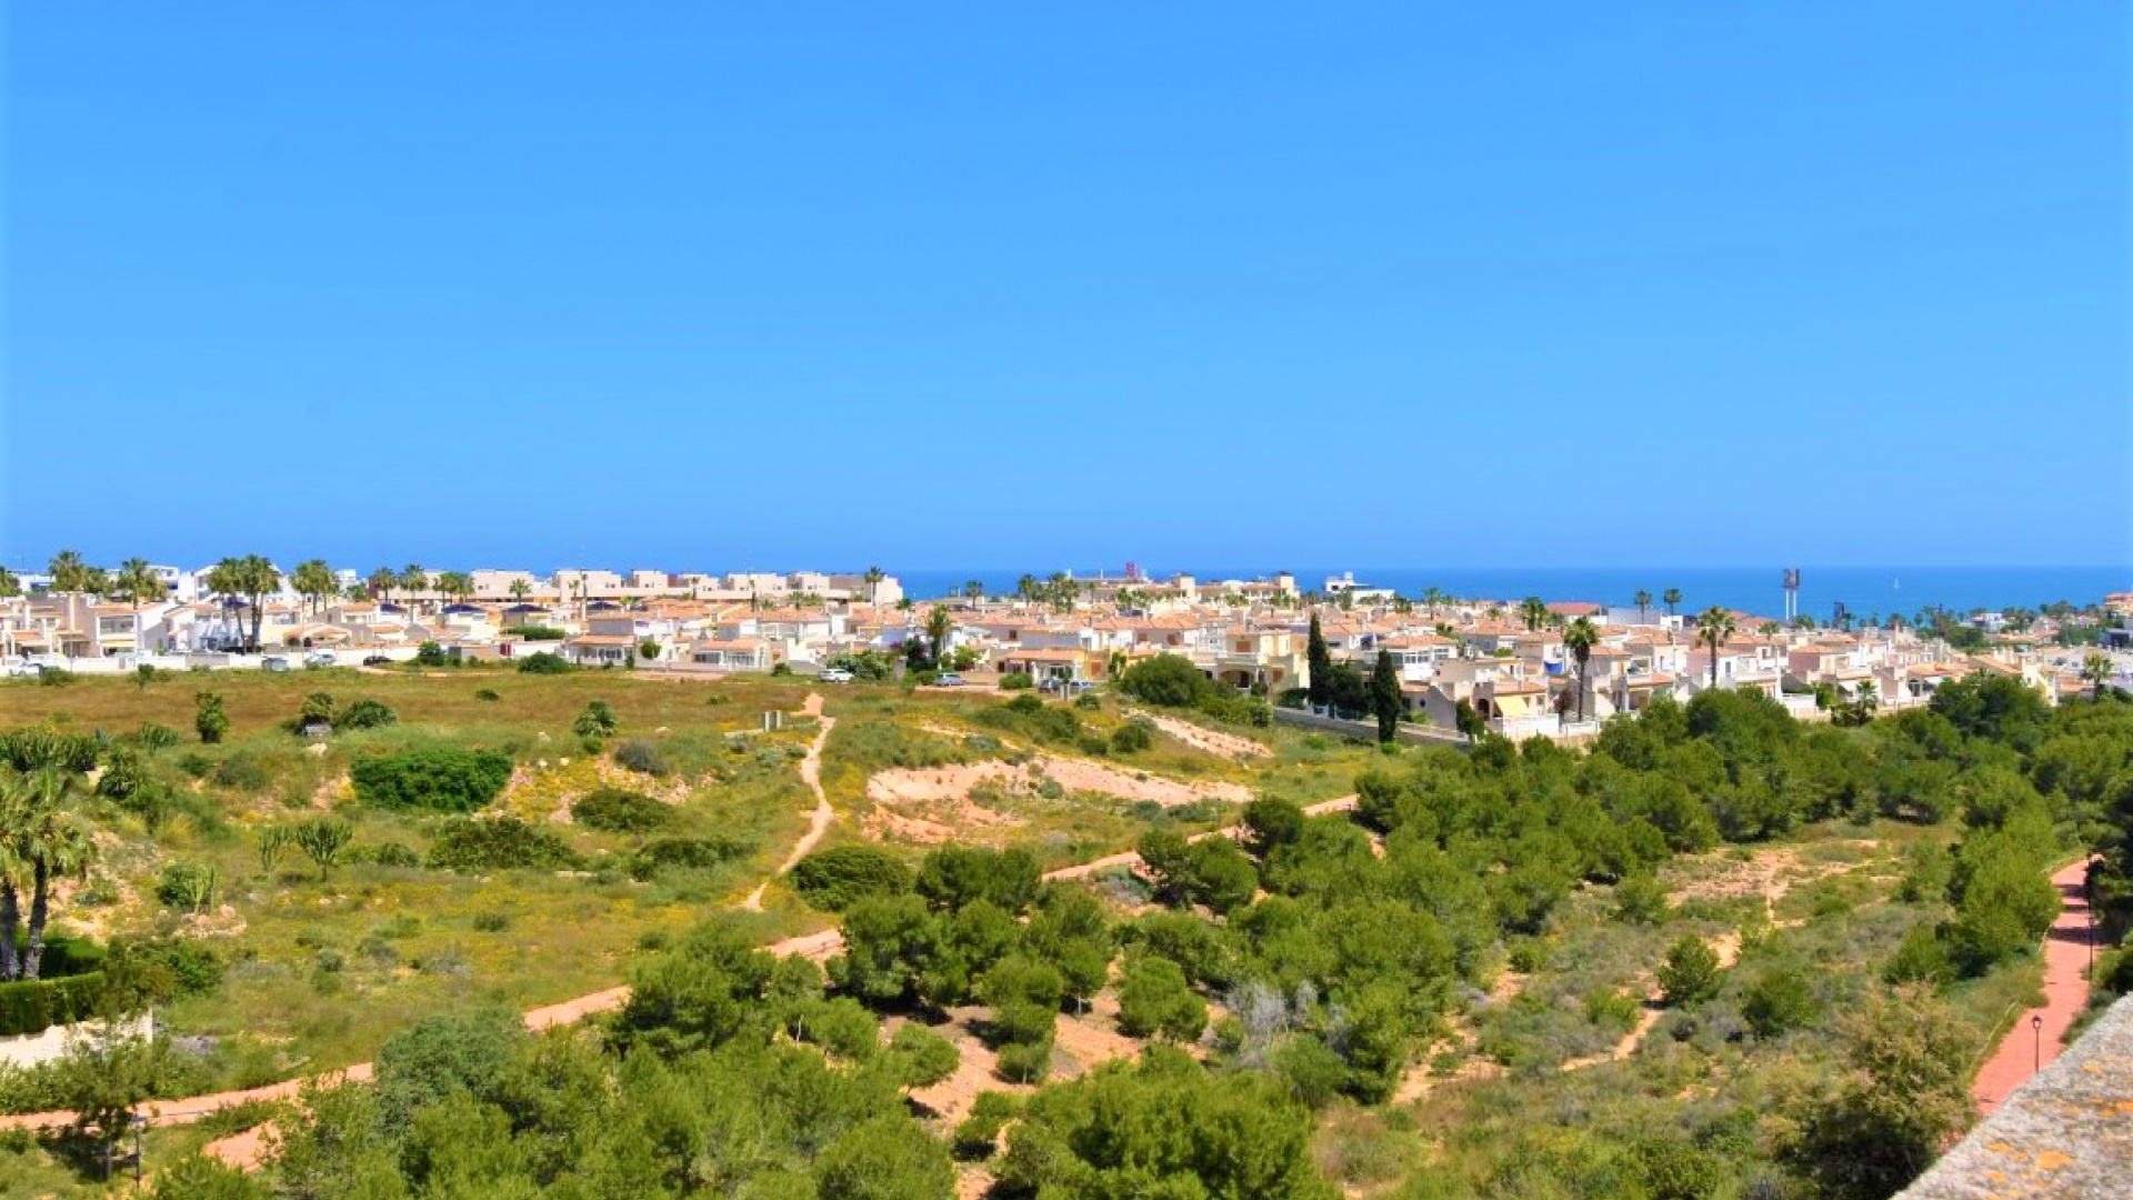
[[[360,1061],[158,1125],[154,1194],[1879,1198],[1967,1125],[2048,871],[2103,848],[2114,922],[2133,893],[2133,705],[2005,679],[1860,728],[1662,700],[1576,752],[857,685],[836,818],[772,880],[817,726],[761,713],[804,696],[0,688],[11,803],[58,788],[85,846],[47,961],[162,1023],[0,1070],[6,1108],[85,1112],[9,1134],[0,1198],[94,1194],[137,1100]],[[390,720],[335,722],[358,700]]]

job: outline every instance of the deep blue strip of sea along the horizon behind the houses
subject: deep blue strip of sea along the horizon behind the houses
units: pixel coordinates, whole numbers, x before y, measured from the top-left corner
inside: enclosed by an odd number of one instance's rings
[[[979,581],[990,596],[1009,596],[1024,574],[1049,577],[1047,568],[990,570],[907,570],[896,572],[904,594],[932,600],[960,596],[964,583]],[[1391,587],[1421,600],[1431,587],[1463,600],[1517,602],[1525,596],[1542,600],[1583,600],[1595,604],[1634,604],[1638,589],[1651,591],[1653,606],[1668,587],[1681,589],[1681,611],[1698,613],[1713,604],[1753,615],[1785,611],[1785,568],[1732,566],[1593,566],[1593,568],[1412,568],[1412,566],[1340,566],[1340,568],[1237,568],[1237,566],[1150,566],[1148,579],[1169,579],[1177,572],[1201,583],[1222,579],[1273,579],[1276,570],[1297,577],[1303,591],[1322,591],[1327,579],[1354,574],[1361,587]],[[1928,609],[1954,613],[2041,609],[2065,600],[2075,606],[2101,602],[2114,591],[2133,591],[2133,566],[1800,566],[1798,611],[1828,621],[1843,604],[1858,619],[1890,615],[1915,617]],[[1120,579],[1124,568],[1079,568],[1075,579]]]

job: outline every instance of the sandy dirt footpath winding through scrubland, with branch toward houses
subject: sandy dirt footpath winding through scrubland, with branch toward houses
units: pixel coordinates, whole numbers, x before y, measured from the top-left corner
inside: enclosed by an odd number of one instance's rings
[[[821,696],[808,696],[806,698],[806,707],[802,709],[802,713],[819,717],[821,715]],[[793,852],[785,858],[785,863],[779,865],[779,873],[781,875],[785,871],[789,871],[793,867],[793,863],[798,863],[800,858],[804,858],[806,852],[817,841],[821,841],[821,835],[828,831],[830,820],[836,816],[834,809],[830,809],[830,801],[828,801],[828,796],[823,796],[823,790],[821,790],[821,747],[823,747],[823,743],[828,743],[828,739],[830,739],[830,726],[834,726],[834,724],[836,724],[834,717],[821,717],[821,730],[815,735],[815,743],[808,747],[808,756],[800,764],[802,779],[806,779],[808,788],[815,790],[815,814],[813,814],[813,820],[808,824],[808,833],[800,839],[800,846],[796,846]],[[1303,811],[1310,814],[1310,816],[1322,816],[1322,814],[1333,814],[1333,811],[1348,811],[1354,805],[1357,805],[1357,796],[1350,794],[1350,796],[1337,796],[1337,799],[1331,799],[1331,801],[1320,801],[1316,805],[1305,805]],[[1244,835],[1244,826],[1241,824],[1233,824],[1233,826],[1224,826],[1224,828],[1214,828],[1214,831],[1207,831],[1207,833],[1199,833],[1199,835],[1192,837],[1192,841],[1199,841],[1201,837],[1241,837],[1241,835]],[[1096,873],[1096,871],[1101,871],[1105,867],[1139,867],[1139,863],[1141,863],[1141,856],[1133,854],[1133,852],[1126,852],[1126,854],[1107,854],[1107,856],[1090,860],[1090,863],[1079,863],[1079,865],[1073,865],[1073,867],[1060,867],[1058,871],[1047,871],[1045,880],[1077,880],[1077,878],[1084,878],[1084,875],[1092,875],[1092,873]],[[764,888],[757,886],[755,893],[751,893],[749,899],[742,901],[742,907],[759,907],[761,905],[761,895],[764,895]],[[783,942],[772,942],[770,946],[764,946],[764,950],[768,950],[772,954],[779,954],[779,957],[800,954],[800,957],[813,959],[817,963],[823,961],[823,959],[834,957],[843,948],[845,948],[845,935],[838,929],[834,929],[834,927],[817,931],[817,933],[802,933],[798,937],[785,937]],[[548,1006],[542,1006],[542,1008],[531,1008],[531,1010],[525,1012],[525,1023],[527,1023],[527,1029],[533,1029],[533,1031],[555,1029],[559,1025],[574,1025],[574,1023],[578,1023],[578,1021],[582,1021],[587,1016],[593,1016],[597,1012],[614,1012],[616,1008],[621,1008],[627,1001],[629,1001],[629,989],[627,986],[612,986],[612,989],[606,989],[606,991],[595,991],[595,993],[589,993],[589,995],[580,995],[576,999],[565,999],[561,1004],[548,1004]],[[141,1108],[147,1112],[149,1121],[154,1121],[154,1123],[183,1125],[183,1123],[190,1123],[190,1121],[198,1121],[201,1117],[207,1117],[211,1112],[220,1112],[222,1108],[235,1108],[239,1104],[273,1102],[273,1100],[294,1100],[296,1095],[303,1093],[305,1087],[309,1087],[314,1083],[328,1085],[328,1087],[337,1085],[337,1083],[369,1083],[371,1080],[371,1072],[373,1072],[371,1063],[354,1063],[350,1068],[341,1068],[341,1070],[333,1070],[333,1072],[322,1072],[318,1076],[290,1078],[290,1080],[284,1080],[284,1083],[271,1083],[267,1087],[247,1087],[243,1091],[218,1091],[218,1093],[211,1093],[211,1095],[188,1095],[183,1100],[147,1100],[147,1102],[141,1104]],[[21,1112],[21,1115],[15,1115],[15,1117],[0,1117],[0,1130],[60,1130],[60,1127],[66,1127],[66,1125],[73,1125],[73,1123],[75,1123],[75,1115],[73,1112],[64,1112],[64,1110],[60,1110],[60,1112]],[[247,1130],[243,1134],[235,1134],[230,1138],[224,1138],[224,1140],[211,1144],[209,1153],[222,1157],[224,1162],[232,1162],[235,1166],[247,1166],[250,1168],[254,1162],[258,1162],[258,1155],[262,1153],[260,1130]]]

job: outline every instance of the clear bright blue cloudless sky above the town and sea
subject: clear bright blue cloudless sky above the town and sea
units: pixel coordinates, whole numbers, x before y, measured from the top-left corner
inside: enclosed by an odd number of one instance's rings
[[[2118,4],[15,4],[0,557],[2127,564]]]

